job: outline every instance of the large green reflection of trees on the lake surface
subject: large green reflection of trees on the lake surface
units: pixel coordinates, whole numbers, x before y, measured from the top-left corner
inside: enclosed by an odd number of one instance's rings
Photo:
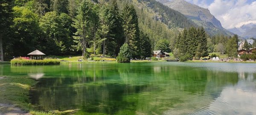
[[[236,73],[184,66],[69,65],[46,73],[31,95],[46,110],[179,114],[209,105],[237,82]]]

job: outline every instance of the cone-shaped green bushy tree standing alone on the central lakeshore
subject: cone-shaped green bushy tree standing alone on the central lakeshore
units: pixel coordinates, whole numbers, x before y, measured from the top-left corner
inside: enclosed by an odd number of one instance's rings
[[[121,46],[119,55],[116,58],[118,63],[129,63],[131,58],[130,48],[127,43]]]

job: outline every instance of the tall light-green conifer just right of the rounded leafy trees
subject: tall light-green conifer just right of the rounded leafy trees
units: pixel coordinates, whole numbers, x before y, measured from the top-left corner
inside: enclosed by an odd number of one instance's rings
[[[77,50],[80,50],[82,48],[82,55],[87,57],[87,51],[86,51],[86,44],[88,39],[88,32],[90,28],[90,22],[91,22],[91,14],[92,14],[92,5],[87,0],[84,0],[81,3],[81,6],[78,8],[78,12],[76,15],[76,18],[74,19],[74,27],[77,29],[77,32],[75,33],[75,36],[73,36],[75,45]]]

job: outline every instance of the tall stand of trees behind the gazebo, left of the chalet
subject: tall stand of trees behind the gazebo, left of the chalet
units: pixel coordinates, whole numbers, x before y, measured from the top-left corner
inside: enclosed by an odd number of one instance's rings
[[[151,41],[140,31],[137,11],[128,2],[122,3],[122,9],[116,0],[4,0],[0,4],[0,44],[6,59],[35,49],[47,55],[117,56],[124,43],[133,58],[151,53]]]

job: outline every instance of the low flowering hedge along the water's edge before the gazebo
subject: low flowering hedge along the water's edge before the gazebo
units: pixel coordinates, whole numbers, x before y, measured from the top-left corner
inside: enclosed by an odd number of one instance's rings
[[[12,65],[59,65],[61,62],[56,59],[44,59],[44,60],[25,60],[21,58],[12,59]]]

